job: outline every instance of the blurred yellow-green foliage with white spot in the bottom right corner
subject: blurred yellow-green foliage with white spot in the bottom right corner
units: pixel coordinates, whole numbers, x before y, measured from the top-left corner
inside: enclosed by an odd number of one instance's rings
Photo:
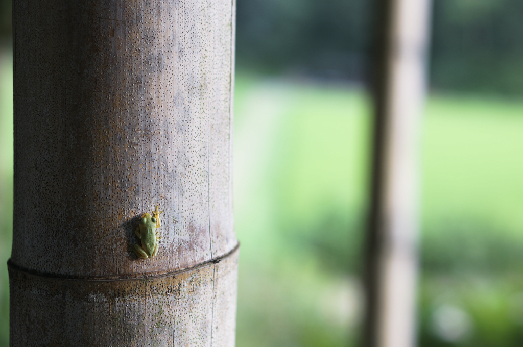
[[[422,288],[420,346],[515,347],[523,343],[523,279],[520,274],[426,274]],[[439,323],[434,319],[438,310],[439,313],[447,310],[447,314],[439,317]],[[463,325],[463,319],[468,323]],[[441,326],[446,325],[438,333]],[[464,334],[460,334],[460,326],[466,327]]]

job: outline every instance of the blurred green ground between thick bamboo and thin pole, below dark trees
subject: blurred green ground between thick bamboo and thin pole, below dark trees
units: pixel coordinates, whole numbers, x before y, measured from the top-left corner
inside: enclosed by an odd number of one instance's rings
[[[238,73],[237,346],[354,345],[368,99]]]

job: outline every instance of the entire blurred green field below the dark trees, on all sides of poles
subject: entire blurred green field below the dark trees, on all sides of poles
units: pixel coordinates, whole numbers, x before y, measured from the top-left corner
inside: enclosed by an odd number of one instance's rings
[[[10,69],[10,56],[0,55],[4,264],[13,215]],[[370,114],[368,95],[354,86],[237,74],[238,347],[355,343]],[[433,95],[422,133],[421,345],[519,346],[523,101]],[[0,345],[7,315],[4,266]]]

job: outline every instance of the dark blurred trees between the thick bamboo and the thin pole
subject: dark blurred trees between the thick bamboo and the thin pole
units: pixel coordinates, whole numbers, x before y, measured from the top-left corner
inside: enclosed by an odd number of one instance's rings
[[[365,0],[240,0],[237,64],[363,79],[372,34]]]

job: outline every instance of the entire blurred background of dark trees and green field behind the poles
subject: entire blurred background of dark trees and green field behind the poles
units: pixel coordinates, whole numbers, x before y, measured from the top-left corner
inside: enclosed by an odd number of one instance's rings
[[[367,0],[237,2],[238,347],[358,345],[374,13]],[[13,218],[10,27],[10,1],[0,0],[0,346]],[[521,346],[523,2],[434,0],[431,28],[418,344]]]

